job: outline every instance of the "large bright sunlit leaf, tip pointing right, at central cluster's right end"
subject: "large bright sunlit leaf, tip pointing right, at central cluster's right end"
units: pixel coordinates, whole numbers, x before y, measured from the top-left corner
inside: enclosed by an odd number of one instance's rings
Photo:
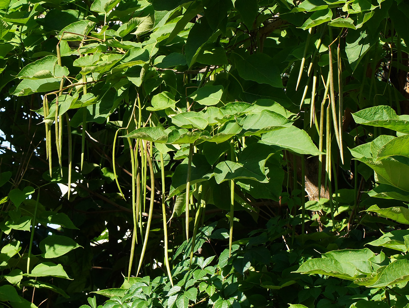
[[[295,126],[285,127],[265,133],[261,137],[261,143],[279,146],[295,153],[319,155],[317,146],[305,130]]]

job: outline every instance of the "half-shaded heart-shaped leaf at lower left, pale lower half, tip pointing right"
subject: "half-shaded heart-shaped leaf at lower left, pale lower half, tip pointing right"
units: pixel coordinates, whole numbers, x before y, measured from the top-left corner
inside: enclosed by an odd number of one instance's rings
[[[43,252],[41,256],[48,259],[57,258],[82,246],[67,236],[50,235],[43,239],[38,247],[40,247],[40,250]]]

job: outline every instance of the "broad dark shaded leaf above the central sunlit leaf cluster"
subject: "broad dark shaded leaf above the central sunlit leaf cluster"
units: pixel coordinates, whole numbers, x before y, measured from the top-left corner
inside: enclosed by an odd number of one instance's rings
[[[283,88],[279,68],[267,54],[256,53],[249,55],[236,63],[240,77],[258,83],[267,83],[276,88]]]

